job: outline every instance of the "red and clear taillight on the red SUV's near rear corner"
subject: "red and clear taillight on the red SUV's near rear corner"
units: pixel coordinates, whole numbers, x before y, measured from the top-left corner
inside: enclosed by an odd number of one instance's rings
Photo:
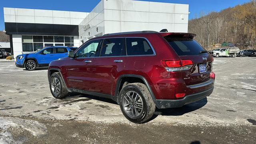
[[[192,60],[163,60],[162,65],[168,72],[189,70],[193,66]]]

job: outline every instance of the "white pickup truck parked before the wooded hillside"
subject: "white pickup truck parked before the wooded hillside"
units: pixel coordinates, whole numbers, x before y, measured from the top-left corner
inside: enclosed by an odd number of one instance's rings
[[[212,56],[215,56],[216,58],[220,56],[228,56],[228,57],[236,57],[236,54],[240,52],[240,49],[237,47],[230,47],[230,48],[218,48],[212,51],[209,51]]]

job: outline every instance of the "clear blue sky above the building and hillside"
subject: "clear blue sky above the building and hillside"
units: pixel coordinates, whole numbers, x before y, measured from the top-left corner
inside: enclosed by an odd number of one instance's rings
[[[152,2],[170,2],[189,4],[189,19],[201,11],[220,11],[222,9],[243,4],[250,0],[142,0]],[[43,10],[66,10],[77,12],[90,12],[100,0],[2,0],[0,7],[0,30],[4,29],[4,10],[9,8],[32,8]]]

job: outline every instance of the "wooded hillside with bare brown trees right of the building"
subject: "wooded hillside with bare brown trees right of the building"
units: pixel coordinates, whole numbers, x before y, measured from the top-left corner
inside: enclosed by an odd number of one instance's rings
[[[201,12],[189,20],[188,32],[207,50],[232,42],[241,49],[256,49],[256,0],[220,12]]]

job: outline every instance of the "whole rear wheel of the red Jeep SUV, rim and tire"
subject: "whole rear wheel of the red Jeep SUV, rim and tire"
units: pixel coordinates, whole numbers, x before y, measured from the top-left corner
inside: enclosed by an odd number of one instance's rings
[[[134,123],[144,123],[154,115],[156,105],[142,83],[124,86],[119,96],[120,108],[124,116]]]

